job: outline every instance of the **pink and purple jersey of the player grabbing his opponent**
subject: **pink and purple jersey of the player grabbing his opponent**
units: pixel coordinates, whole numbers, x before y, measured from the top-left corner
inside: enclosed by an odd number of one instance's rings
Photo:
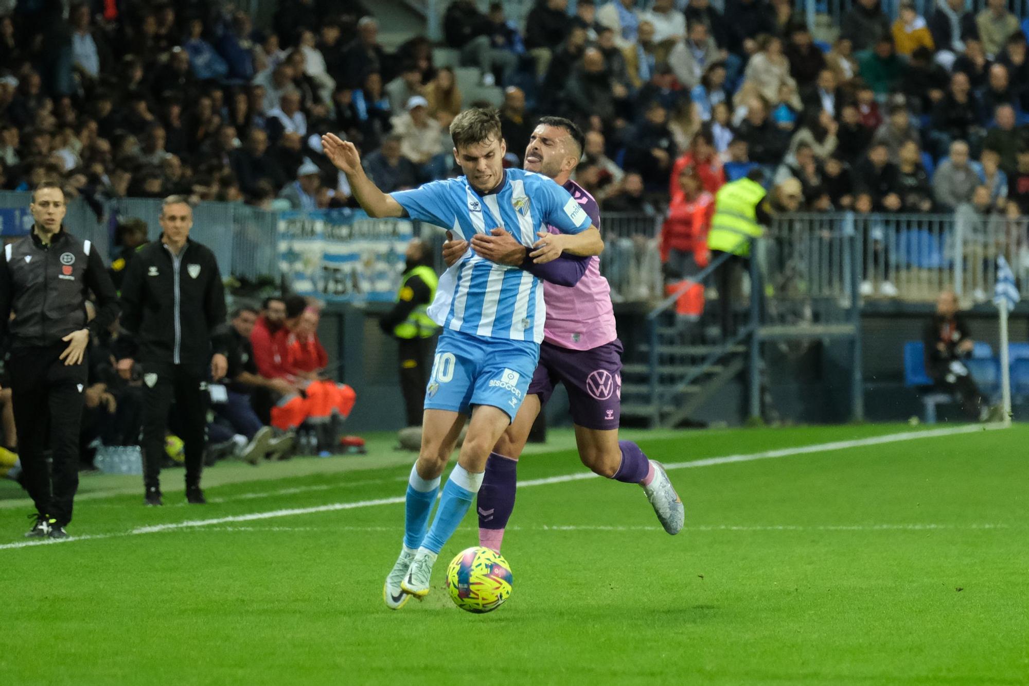
[[[600,206],[593,196],[572,180],[564,187],[582,206],[593,226],[600,229]],[[552,234],[561,233],[554,227],[547,230]],[[546,303],[543,340],[547,343],[570,350],[592,350],[618,336],[611,307],[611,287],[600,275],[600,258],[590,259],[586,274],[573,286],[544,281],[543,301]]]

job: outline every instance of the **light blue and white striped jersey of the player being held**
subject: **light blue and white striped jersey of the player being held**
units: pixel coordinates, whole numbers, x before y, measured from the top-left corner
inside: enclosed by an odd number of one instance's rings
[[[464,176],[391,194],[413,219],[471,240],[500,227],[523,245],[546,226],[577,234],[590,217],[567,191],[541,174],[508,169],[499,188],[481,196]],[[429,316],[445,329],[513,341],[543,340],[546,308],[539,280],[518,267],[467,253],[440,277]]]

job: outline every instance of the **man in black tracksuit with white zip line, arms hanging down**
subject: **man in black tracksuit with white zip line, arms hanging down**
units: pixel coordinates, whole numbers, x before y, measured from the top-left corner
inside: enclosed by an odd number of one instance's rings
[[[161,464],[173,398],[183,426],[186,500],[203,504],[208,371],[218,380],[228,366],[224,351],[212,349],[211,339],[225,320],[225,291],[214,253],[189,240],[192,209],[186,199],[167,198],[159,220],[161,238],[136,253],[121,282],[121,323],[137,335],[143,368],[146,504],[162,505]]]

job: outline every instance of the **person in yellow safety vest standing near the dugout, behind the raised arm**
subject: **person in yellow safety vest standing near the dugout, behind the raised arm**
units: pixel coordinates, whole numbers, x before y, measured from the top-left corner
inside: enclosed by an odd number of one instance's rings
[[[397,342],[407,426],[421,426],[425,386],[429,382],[429,339],[438,329],[426,310],[436,295],[437,278],[428,264],[429,249],[423,241],[417,238],[411,241],[405,256],[396,305],[379,320],[379,325]]]

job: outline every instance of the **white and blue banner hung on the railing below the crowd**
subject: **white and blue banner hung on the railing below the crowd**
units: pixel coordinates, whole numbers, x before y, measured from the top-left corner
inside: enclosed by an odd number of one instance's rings
[[[349,209],[282,212],[279,267],[290,287],[326,302],[392,302],[414,238],[407,219]]]

